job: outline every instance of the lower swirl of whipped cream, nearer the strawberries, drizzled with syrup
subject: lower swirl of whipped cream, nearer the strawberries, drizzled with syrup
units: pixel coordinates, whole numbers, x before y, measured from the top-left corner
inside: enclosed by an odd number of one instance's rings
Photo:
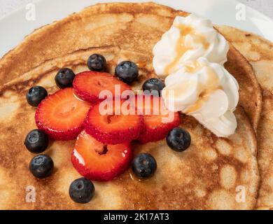
[[[218,137],[235,133],[239,102],[237,80],[221,65],[200,57],[167,76],[162,97],[170,111],[195,117]]]

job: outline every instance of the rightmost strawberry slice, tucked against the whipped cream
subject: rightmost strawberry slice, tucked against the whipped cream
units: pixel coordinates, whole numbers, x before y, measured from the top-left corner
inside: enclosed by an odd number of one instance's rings
[[[144,116],[144,131],[139,137],[143,144],[164,139],[169,131],[180,125],[179,113],[169,111],[161,97],[137,95],[135,103]]]

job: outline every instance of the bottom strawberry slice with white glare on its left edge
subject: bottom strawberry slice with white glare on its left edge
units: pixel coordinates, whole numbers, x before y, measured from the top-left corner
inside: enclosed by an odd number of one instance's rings
[[[130,143],[104,145],[83,131],[76,141],[71,162],[86,179],[111,181],[129,168],[132,158]]]

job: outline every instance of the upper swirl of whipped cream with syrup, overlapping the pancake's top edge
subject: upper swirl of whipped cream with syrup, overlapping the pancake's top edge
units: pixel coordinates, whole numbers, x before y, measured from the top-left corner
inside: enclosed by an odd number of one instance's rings
[[[158,76],[178,71],[181,63],[206,57],[210,62],[227,62],[228,41],[213,27],[210,20],[196,15],[177,16],[171,29],[153,48],[153,67]]]

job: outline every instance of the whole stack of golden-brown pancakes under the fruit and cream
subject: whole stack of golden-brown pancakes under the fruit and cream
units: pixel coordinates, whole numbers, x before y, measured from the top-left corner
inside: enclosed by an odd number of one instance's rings
[[[136,62],[140,76],[133,88],[140,90],[145,80],[157,77],[153,46],[177,15],[188,13],[155,3],[90,6],[37,29],[0,60],[0,209],[273,208],[273,43],[232,27],[216,27],[230,41],[225,68],[240,86],[238,127],[231,137],[218,138],[181,115],[181,127],[192,137],[187,151],[176,153],[166,141],[134,143],[135,154],[151,153],[157,160],[155,176],[138,181],[128,170],[114,181],[95,182],[89,204],[69,198],[70,183],[79,177],[70,162],[74,141],[50,144],[45,153],[55,172],[48,179],[37,180],[29,172],[33,155],[24,139],[36,125],[27,90],[41,85],[56,92],[57,71],[85,71],[93,53],[106,57],[112,74],[119,62]],[[27,186],[36,189],[35,203],[25,200]]]

